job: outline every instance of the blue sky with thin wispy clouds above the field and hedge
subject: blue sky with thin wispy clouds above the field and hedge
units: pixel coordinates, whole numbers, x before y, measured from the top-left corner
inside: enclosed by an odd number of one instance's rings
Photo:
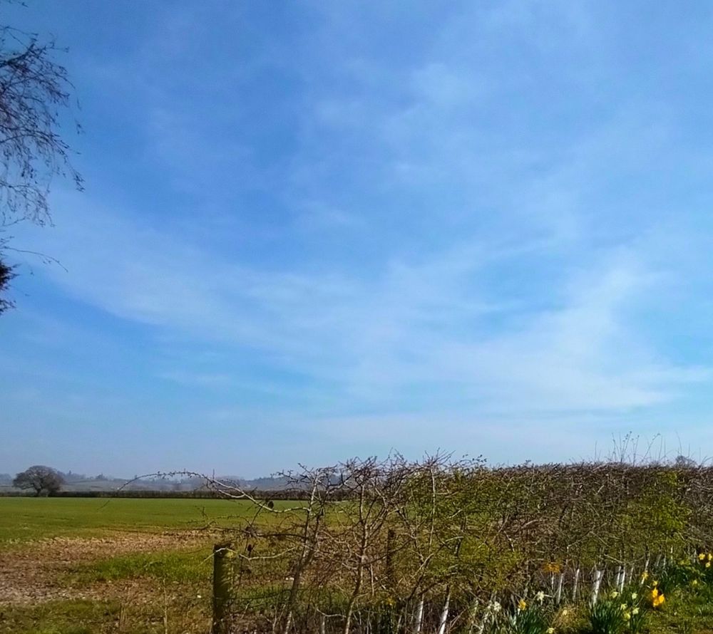
[[[0,472],[713,453],[709,2],[28,4],[87,186],[15,232]]]

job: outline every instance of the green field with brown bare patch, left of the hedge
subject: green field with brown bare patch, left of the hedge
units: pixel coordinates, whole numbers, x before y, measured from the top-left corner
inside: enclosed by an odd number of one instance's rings
[[[229,500],[0,498],[0,633],[206,632],[212,544],[249,513]]]

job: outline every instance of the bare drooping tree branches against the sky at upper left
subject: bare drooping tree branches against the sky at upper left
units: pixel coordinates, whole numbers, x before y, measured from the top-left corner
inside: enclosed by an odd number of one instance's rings
[[[66,68],[54,61],[58,51],[53,41],[0,24],[0,313],[13,306],[6,298],[14,277],[8,252],[22,251],[9,246],[9,228],[23,221],[51,222],[53,177],[69,177],[82,189],[71,149],[59,133],[73,86]]]

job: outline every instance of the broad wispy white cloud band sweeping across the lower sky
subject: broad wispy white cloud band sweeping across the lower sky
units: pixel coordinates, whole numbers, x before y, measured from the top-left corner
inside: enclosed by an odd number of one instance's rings
[[[483,414],[620,411],[668,402],[708,378],[637,335],[630,315],[659,278],[632,250],[605,251],[556,276],[536,306],[482,284],[518,271],[525,245],[461,241],[418,261],[391,259],[371,279],[266,271],[128,214],[85,207],[63,216],[46,246],[68,271],[45,272],[68,293],[158,333],[220,342],[279,370],[329,379],[322,389],[345,397],[347,410],[462,402]],[[240,380],[220,368],[162,372],[213,388]]]

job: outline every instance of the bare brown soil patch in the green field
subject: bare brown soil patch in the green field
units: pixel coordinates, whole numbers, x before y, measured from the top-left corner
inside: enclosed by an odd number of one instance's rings
[[[159,534],[113,532],[101,537],[53,537],[0,551],[0,606],[36,604],[57,599],[108,599],[126,596],[140,582],[125,580],[76,588],[63,578],[82,563],[122,554],[192,549],[210,539],[205,531]],[[138,589],[138,588],[137,588]],[[157,588],[158,590],[158,588]],[[145,588],[136,593],[140,601]]]

